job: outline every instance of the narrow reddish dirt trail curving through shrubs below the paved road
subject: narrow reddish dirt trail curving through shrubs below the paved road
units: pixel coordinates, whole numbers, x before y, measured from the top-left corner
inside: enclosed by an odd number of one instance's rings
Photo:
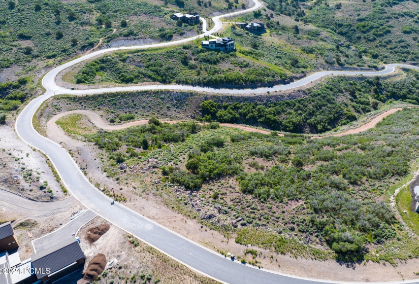
[[[380,122],[381,120],[383,120],[385,117],[394,114],[395,112],[401,111],[402,108],[395,108],[395,109],[391,109],[389,111],[386,111],[380,115],[378,115],[377,117],[373,118],[370,122],[355,128],[355,129],[350,129],[348,131],[345,132],[341,132],[341,133],[337,133],[337,134],[331,134],[331,135],[325,135],[325,136],[312,136],[311,139],[314,138],[324,138],[324,137],[330,137],[330,136],[344,136],[344,135],[349,135],[349,134],[356,134],[356,133],[360,133],[363,131],[366,131],[368,129],[371,129],[373,127],[375,127],[377,125],[378,122]],[[144,124],[148,124],[148,120],[136,120],[136,121],[132,121],[132,122],[128,122],[128,123],[124,123],[124,124],[119,124],[119,125],[109,125],[107,121],[105,121],[99,114],[94,113],[92,111],[87,111],[87,110],[76,110],[76,111],[69,111],[69,112],[64,112],[64,113],[60,113],[54,117],[52,117],[48,122],[47,122],[47,129],[51,132],[56,133],[56,129],[59,127],[55,122],[62,118],[65,117],[67,115],[71,115],[71,114],[81,114],[81,115],[85,115],[89,118],[90,122],[92,122],[96,127],[103,129],[105,131],[112,131],[112,130],[121,130],[121,129],[125,129],[128,127],[132,127],[132,126],[137,126],[137,125],[144,125]],[[180,120],[160,120],[161,122],[167,122],[170,124],[173,123],[177,123],[177,122],[182,122]],[[205,123],[199,123],[200,125],[203,125]],[[263,133],[263,134],[270,134],[271,131],[267,131],[267,130],[262,130],[262,129],[257,129],[254,127],[250,127],[250,126],[243,126],[243,125],[238,125],[238,124],[231,124],[231,123],[220,123],[220,126],[223,127],[232,127],[232,128],[238,128],[238,129],[242,129],[245,131],[249,131],[249,132],[259,132],[259,133]],[[283,136],[284,134],[278,134],[280,136]]]

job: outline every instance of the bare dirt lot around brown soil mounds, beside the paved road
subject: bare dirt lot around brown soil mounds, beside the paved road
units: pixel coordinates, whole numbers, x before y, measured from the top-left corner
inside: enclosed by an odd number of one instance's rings
[[[109,231],[94,243],[86,240],[85,237],[90,228],[104,224],[107,224],[105,220],[96,217],[79,232],[81,246],[86,255],[85,269],[95,256],[103,254],[106,258],[107,264],[104,274],[98,280],[99,283],[109,283],[111,279],[114,279],[115,282],[136,279],[140,283],[148,279],[151,283],[156,280],[168,284],[216,283],[154,250],[154,248],[134,238],[131,239],[124,231],[113,225],[110,225]],[[85,283],[85,281],[80,280],[79,283]]]

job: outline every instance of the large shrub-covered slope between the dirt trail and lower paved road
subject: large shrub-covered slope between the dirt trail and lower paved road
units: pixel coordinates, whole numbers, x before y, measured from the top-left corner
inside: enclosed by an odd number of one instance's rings
[[[318,259],[332,256],[289,242],[286,233],[298,232],[328,245],[338,259],[393,261],[415,256],[407,256],[402,248],[397,254],[386,253],[396,238],[400,247],[411,244],[403,240],[389,204],[377,199],[391,180],[408,174],[411,156],[416,155],[418,120],[417,109],[405,109],[357,135],[309,139],[151,119],[148,125],[85,137],[105,149],[115,166],[151,157],[161,161],[162,173],[172,183],[211,197],[225,208],[223,214],[241,217],[241,228],[262,229],[263,238],[254,238],[252,229],[239,230],[240,243],[273,247],[280,253],[295,247],[297,255]],[[243,161],[255,170],[249,172]],[[274,165],[260,166],[268,162]],[[226,179],[237,181],[238,187],[230,182],[214,186]],[[228,197],[232,189],[241,195]],[[279,235],[272,235],[272,229]]]

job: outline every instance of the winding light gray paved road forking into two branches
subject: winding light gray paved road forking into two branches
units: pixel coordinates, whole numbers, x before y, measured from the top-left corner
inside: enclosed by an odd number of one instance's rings
[[[265,283],[265,284],[313,284],[314,282],[333,282],[325,280],[307,279],[291,275],[284,275],[281,273],[267,271],[263,269],[253,268],[247,265],[242,265],[238,262],[231,261],[221,255],[210,251],[202,245],[192,242],[177,233],[158,225],[157,223],[139,215],[137,212],[119,204],[111,204],[111,199],[95,189],[85,175],[76,165],[69,153],[60,145],[54,143],[48,138],[40,135],[33,127],[32,118],[36,114],[40,105],[54,94],[99,94],[103,92],[119,92],[119,91],[138,91],[150,89],[172,89],[172,90],[191,90],[191,91],[206,91],[223,94],[251,94],[251,93],[265,93],[267,91],[288,90],[292,88],[301,87],[311,81],[317,80],[326,75],[364,75],[376,76],[385,75],[394,72],[395,67],[405,66],[419,69],[415,66],[403,64],[389,64],[385,69],[379,72],[318,72],[310,75],[304,79],[296,81],[288,85],[275,86],[272,88],[260,89],[214,89],[195,86],[181,86],[181,85],[166,85],[160,86],[130,86],[130,87],[117,87],[117,88],[104,88],[92,90],[68,90],[59,87],[55,84],[56,75],[63,69],[70,67],[76,63],[86,59],[98,56],[110,51],[128,50],[128,49],[146,49],[155,47],[164,47],[169,45],[177,45],[186,43],[192,40],[203,38],[205,35],[210,35],[221,28],[221,17],[233,16],[241,13],[247,13],[258,9],[261,6],[260,2],[254,0],[254,6],[247,10],[238,11],[228,15],[220,15],[213,18],[215,26],[209,31],[206,30],[204,23],[204,33],[197,37],[183,39],[179,41],[160,43],[144,46],[131,46],[121,48],[110,48],[93,52],[91,54],[82,56],[73,61],[60,65],[45,75],[42,80],[43,86],[46,88],[44,95],[41,95],[34,100],[30,101],[25,109],[21,111],[16,120],[16,131],[20,138],[29,145],[44,152],[54,164],[61,180],[66,185],[68,190],[87,208],[100,215],[102,218],[108,220],[126,232],[133,234],[149,245],[157,248],[159,251],[169,255],[170,257],[185,264],[191,269],[198,271],[204,275],[214,278],[224,283]],[[398,281],[400,282],[400,281]],[[406,281],[417,282],[417,280]]]

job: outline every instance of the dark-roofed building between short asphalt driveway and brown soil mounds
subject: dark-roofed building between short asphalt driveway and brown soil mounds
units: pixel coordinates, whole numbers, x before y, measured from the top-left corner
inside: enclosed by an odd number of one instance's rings
[[[86,256],[74,237],[54,245],[31,257],[35,275],[43,282],[51,282],[77,270]]]

